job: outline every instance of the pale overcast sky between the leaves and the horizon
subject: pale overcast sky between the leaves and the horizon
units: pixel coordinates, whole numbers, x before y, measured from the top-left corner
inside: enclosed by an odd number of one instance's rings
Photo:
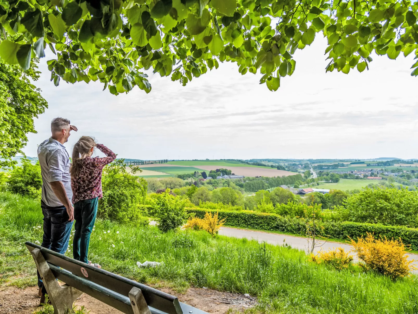
[[[325,73],[326,40],[298,50],[296,70],[270,92],[261,75],[238,73],[236,63],[194,78],[186,87],[150,73],[148,95],[102,91],[99,82],[50,82],[41,59],[41,88],[49,108],[35,121],[24,152],[36,156],[50,136],[50,121],[69,118],[67,150],[82,135],[95,136],[133,159],[418,158],[413,54],[396,61],[372,55],[370,70]]]

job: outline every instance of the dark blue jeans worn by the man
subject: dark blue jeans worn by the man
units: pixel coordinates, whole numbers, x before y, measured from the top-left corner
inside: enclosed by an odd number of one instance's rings
[[[43,237],[41,247],[46,247],[54,252],[64,254],[68,248],[73,222],[68,221],[69,216],[65,206],[51,207],[41,201],[41,208],[43,214]],[[42,293],[46,293],[39,272],[38,287],[42,288]]]

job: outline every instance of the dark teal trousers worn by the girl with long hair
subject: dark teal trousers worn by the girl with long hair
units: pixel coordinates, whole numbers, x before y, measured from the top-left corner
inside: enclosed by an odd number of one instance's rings
[[[97,215],[99,198],[78,201],[74,204],[75,233],[73,239],[73,256],[75,260],[88,263],[90,235]]]

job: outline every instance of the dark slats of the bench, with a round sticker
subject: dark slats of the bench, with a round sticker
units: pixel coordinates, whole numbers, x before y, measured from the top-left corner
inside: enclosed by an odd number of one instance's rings
[[[176,296],[142,283],[87,265],[31,242],[25,242],[25,245],[30,252],[36,248],[41,251],[43,258],[57,279],[123,313],[133,314],[128,294],[133,287],[136,287],[142,291],[152,314],[207,314],[179,302]]]

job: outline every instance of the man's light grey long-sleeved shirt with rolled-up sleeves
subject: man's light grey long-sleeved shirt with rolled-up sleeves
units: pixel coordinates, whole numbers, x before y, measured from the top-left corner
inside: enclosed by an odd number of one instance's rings
[[[42,174],[42,200],[47,206],[63,206],[51,188],[50,182],[61,181],[71,201],[70,158],[64,145],[51,137],[38,147]]]

